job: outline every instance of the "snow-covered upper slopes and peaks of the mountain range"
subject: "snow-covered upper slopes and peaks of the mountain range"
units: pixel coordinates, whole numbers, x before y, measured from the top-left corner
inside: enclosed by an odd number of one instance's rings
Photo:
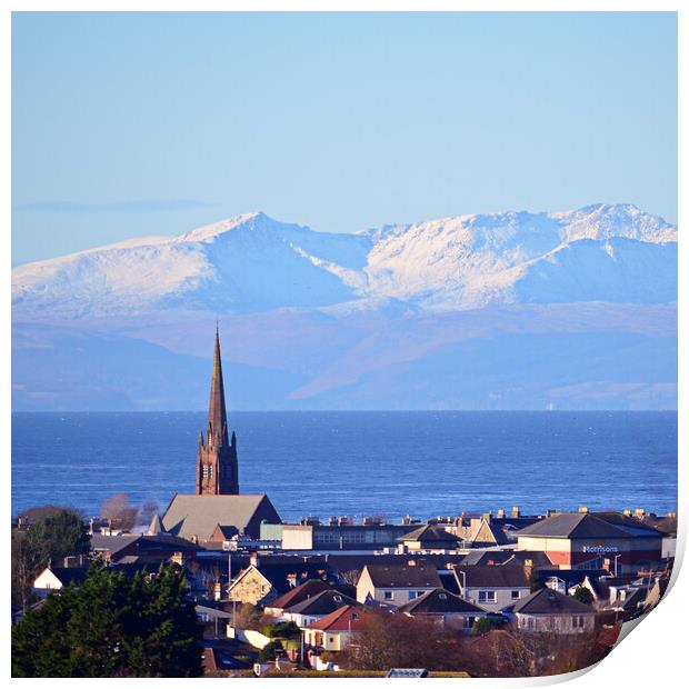
[[[633,206],[459,216],[352,234],[249,213],[29,263],[18,320],[233,313],[395,299],[433,311],[676,299],[677,229]]]

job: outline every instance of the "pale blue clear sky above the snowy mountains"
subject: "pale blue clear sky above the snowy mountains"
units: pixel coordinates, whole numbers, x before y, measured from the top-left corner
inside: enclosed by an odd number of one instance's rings
[[[262,210],[677,222],[675,13],[14,13],[12,264]]]

